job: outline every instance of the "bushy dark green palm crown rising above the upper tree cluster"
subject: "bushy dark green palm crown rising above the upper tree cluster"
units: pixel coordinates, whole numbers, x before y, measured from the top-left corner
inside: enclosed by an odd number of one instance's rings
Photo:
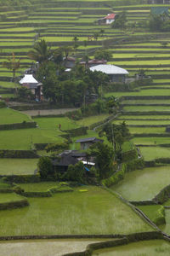
[[[34,48],[32,50],[28,52],[28,57],[31,60],[37,61],[42,64],[42,62],[49,60],[51,54],[51,49],[48,48],[48,44],[46,43],[46,41],[42,39],[34,45]]]

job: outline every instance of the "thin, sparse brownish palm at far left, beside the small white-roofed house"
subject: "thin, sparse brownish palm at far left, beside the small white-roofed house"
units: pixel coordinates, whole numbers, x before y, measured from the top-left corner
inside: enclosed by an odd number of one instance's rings
[[[20,59],[19,61],[16,61],[14,53],[12,53],[11,57],[8,57],[8,61],[3,62],[3,67],[8,68],[9,70],[12,70],[13,72],[13,81],[15,82],[15,75],[17,69],[20,68]]]

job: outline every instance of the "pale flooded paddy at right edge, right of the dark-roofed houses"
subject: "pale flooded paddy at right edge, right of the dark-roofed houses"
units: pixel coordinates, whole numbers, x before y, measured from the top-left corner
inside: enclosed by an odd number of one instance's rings
[[[124,179],[111,189],[127,201],[147,201],[170,184],[170,166],[156,166],[127,172]]]

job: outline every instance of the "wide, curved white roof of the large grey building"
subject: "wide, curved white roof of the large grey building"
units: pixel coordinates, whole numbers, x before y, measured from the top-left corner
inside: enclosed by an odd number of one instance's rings
[[[128,74],[127,70],[122,67],[116,67],[109,64],[101,64],[94,67],[90,67],[91,71],[100,71],[106,74]]]

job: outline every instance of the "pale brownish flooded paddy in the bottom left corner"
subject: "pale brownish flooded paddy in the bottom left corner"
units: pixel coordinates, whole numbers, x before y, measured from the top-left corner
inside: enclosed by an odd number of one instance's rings
[[[106,239],[105,239],[106,240]],[[60,256],[65,253],[82,252],[88,244],[104,239],[55,239],[0,241],[0,256]]]

